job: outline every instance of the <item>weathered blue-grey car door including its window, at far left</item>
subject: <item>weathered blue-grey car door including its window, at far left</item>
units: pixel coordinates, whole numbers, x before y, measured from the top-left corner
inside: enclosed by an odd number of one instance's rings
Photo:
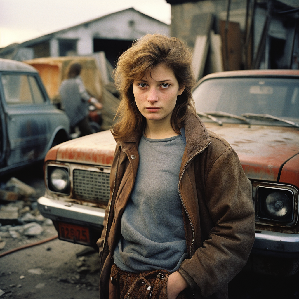
[[[51,135],[47,117],[51,105],[38,74],[7,71],[1,73],[0,81],[9,141],[7,166],[37,160]]]

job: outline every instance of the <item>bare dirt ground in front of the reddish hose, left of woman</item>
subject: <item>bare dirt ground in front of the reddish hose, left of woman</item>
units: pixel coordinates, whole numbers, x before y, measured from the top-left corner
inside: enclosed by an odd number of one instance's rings
[[[76,257],[84,249],[55,239],[2,257],[1,298],[98,298],[98,253]]]

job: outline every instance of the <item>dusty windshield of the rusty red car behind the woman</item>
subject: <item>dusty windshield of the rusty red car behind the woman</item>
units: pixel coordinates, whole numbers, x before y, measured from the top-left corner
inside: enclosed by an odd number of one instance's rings
[[[270,114],[284,119],[299,119],[299,79],[210,79],[193,91],[193,98],[196,111]]]

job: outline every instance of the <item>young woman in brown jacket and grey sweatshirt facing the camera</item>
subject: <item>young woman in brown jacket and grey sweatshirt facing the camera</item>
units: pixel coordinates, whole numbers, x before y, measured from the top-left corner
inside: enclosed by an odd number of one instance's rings
[[[196,116],[191,60],[158,34],[118,60],[100,298],[228,298],[248,259],[251,184],[228,142]]]

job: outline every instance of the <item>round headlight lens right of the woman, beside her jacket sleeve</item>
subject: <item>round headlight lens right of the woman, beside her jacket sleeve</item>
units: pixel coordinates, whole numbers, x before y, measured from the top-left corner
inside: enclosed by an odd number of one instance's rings
[[[266,197],[265,201],[268,213],[275,219],[288,216],[292,210],[292,203],[282,192],[272,192]]]

